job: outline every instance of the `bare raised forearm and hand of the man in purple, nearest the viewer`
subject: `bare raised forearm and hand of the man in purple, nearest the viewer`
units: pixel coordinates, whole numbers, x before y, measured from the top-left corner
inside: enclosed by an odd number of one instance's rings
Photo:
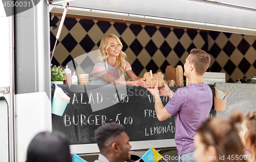
[[[151,94],[155,97],[155,110],[157,114],[157,119],[159,121],[164,121],[167,118],[171,117],[173,114],[170,114],[166,111],[160,99],[158,83],[156,83],[155,88],[147,88],[147,90],[150,91]]]

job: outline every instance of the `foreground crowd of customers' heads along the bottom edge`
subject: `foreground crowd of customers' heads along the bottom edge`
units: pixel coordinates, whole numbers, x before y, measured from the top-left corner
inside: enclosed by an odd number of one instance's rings
[[[244,119],[244,120],[243,120]],[[242,122],[238,131],[237,123]],[[124,162],[131,160],[130,138],[124,127],[108,123],[95,130],[100,153],[95,162]],[[256,156],[256,111],[232,113],[230,119],[213,117],[196,130],[195,151],[180,160],[197,162],[254,162]],[[184,156],[184,155],[183,155]],[[40,132],[31,141],[27,162],[71,162],[69,143],[60,132]]]

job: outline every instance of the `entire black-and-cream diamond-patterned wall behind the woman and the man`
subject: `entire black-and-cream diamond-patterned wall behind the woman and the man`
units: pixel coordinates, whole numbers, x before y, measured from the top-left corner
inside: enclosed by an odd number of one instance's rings
[[[58,26],[60,18],[55,16],[52,23]],[[56,33],[57,29],[50,33],[51,50]],[[52,64],[66,66],[72,60],[80,72],[92,73],[95,50],[109,33],[121,39],[126,60],[139,77],[150,70],[165,73],[167,65],[183,65],[193,48],[212,55],[208,71],[226,73],[226,82],[256,75],[256,36],[70,17],[65,19]]]

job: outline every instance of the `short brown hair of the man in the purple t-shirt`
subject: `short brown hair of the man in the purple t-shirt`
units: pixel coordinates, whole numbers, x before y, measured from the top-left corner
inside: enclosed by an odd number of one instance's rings
[[[200,49],[192,49],[190,51],[189,63],[195,65],[197,75],[204,75],[210,65],[210,55]]]

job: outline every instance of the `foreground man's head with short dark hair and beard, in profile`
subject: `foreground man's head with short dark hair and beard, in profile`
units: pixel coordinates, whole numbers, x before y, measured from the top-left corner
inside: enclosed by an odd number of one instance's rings
[[[100,153],[111,162],[131,160],[130,138],[124,127],[117,123],[108,123],[95,130],[95,141]]]

